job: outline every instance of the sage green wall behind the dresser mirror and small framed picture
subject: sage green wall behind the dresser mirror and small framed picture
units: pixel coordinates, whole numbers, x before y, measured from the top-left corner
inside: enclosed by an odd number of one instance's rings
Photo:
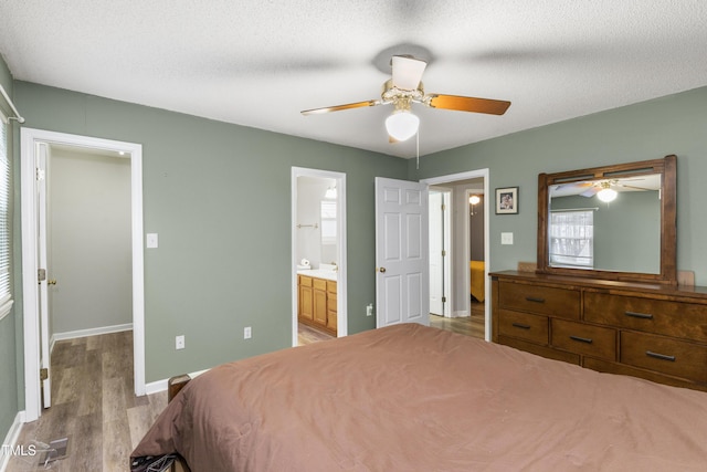
[[[707,285],[707,87],[429,155],[419,170],[408,165],[411,180],[488,168],[492,191],[519,187],[519,214],[490,214],[489,268],[500,271],[536,260],[538,174],[668,154],[677,155],[677,266]],[[500,244],[506,231],[513,245]]]

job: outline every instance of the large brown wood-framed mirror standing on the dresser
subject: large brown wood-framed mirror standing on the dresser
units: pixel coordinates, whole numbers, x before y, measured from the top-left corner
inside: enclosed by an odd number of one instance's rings
[[[538,269],[677,284],[676,157],[538,176]]]

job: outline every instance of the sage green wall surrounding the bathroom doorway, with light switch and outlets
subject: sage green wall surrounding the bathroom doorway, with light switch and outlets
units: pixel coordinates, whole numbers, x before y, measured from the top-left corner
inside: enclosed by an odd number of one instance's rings
[[[159,234],[159,249],[145,250],[148,382],[291,346],[293,166],[346,174],[348,329],[374,327],[365,310],[373,178],[405,178],[403,159],[32,83],[14,90],[28,127],[143,145],[145,232]]]

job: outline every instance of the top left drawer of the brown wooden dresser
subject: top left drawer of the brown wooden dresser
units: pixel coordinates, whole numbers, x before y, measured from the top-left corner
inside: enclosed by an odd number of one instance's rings
[[[502,308],[579,319],[579,301],[580,294],[576,290],[509,282],[498,284]]]

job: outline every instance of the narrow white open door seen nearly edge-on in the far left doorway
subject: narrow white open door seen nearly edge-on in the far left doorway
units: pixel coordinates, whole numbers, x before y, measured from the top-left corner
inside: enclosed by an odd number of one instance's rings
[[[36,144],[36,263],[40,268],[38,307],[40,318],[40,378],[42,379],[42,407],[52,405],[52,385],[49,349],[49,268],[46,263],[46,166],[49,146]],[[42,375],[45,373],[46,375]]]

